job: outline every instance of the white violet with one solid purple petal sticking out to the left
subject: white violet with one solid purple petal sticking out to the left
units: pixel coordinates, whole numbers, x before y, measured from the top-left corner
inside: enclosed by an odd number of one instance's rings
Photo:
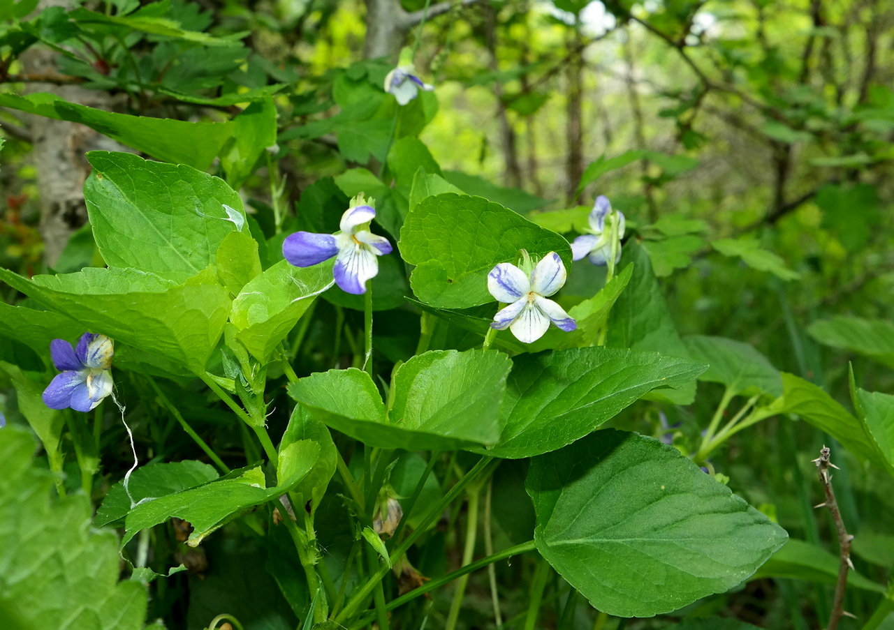
[[[297,231],[283,241],[283,256],[296,267],[318,265],[333,256],[335,283],[346,293],[360,295],[367,292],[367,280],[379,273],[376,256],[391,254],[392,245],[383,236],[369,231],[375,218],[375,208],[361,195],[351,201],[342,214],[342,231],[335,234],[316,234]],[[357,205],[354,205],[357,203]]]

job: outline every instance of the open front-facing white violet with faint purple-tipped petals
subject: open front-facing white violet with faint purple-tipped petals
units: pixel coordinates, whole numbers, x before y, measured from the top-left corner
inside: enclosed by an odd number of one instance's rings
[[[562,307],[547,299],[565,284],[567,273],[555,252],[544,256],[532,269],[527,252],[523,252],[523,271],[516,265],[501,263],[487,274],[487,290],[499,302],[508,303],[493,315],[491,328],[510,329],[522,343],[533,343],[544,336],[550,322],[562,331],[570,332],[578,323]]]

